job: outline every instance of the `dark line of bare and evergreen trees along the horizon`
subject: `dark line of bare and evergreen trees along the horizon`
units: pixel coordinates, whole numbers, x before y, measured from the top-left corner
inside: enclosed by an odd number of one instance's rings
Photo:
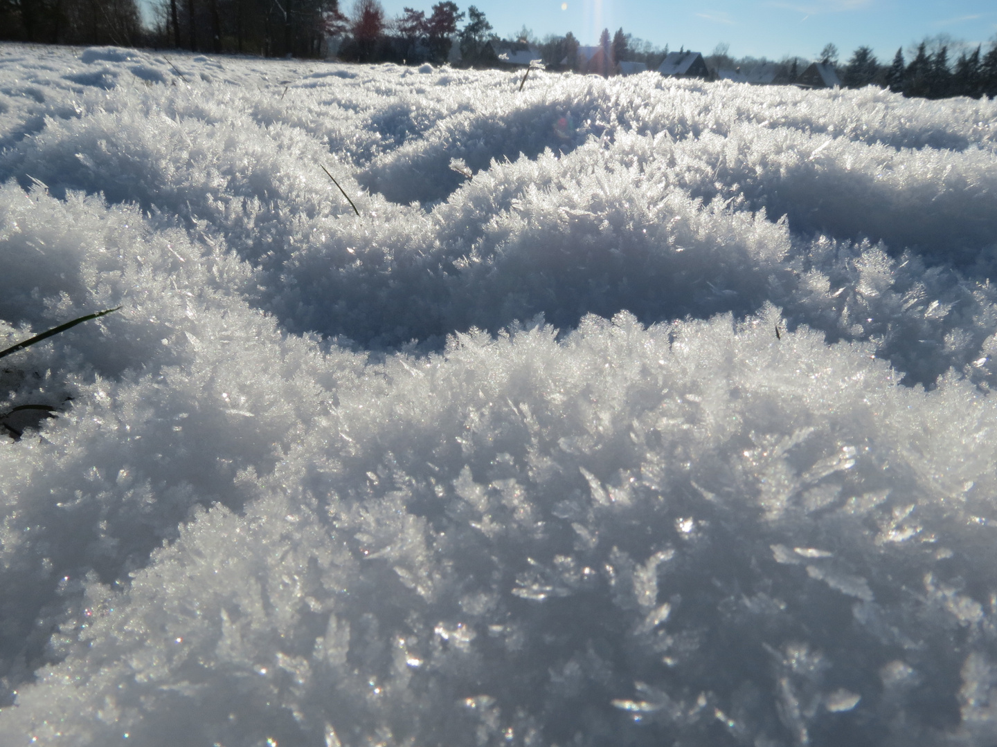
[[[56,44],[115,44],[175,47],[199,52],[235,52],[267,57],[317,58],[335,54],[356,62],[442,64],[457,59],[466,67],[499,63],[497,50],[529,49],[554,70],[601,75],[620,72],[620,63],[643,63],[656,69],[664,48],[619,29],[603,30],[595,48],[584,48],[570,32],[537,39],[525,27],[500,39],[485,13],[472,5],[467,13],[453,0],[430,11],[406,7],[388,18],[379,0],[354,0],[344,13],[339,0],[157,0],[151,27],[142,23],[137,0],[0,0],[0,39]],[[456,46],[456,50],[455,50]],[[596,54],[592,55],[592,50]],[[953,50],[955,50],[953,52]],[[584,51],[585,54],[580,54]],[[718,45],[706,62],[714,75],[725,69],[775,65],[776,82],[794,83],[809,60],[779,63],[727,55]],[[997,40],[988,50],[958,43],[924,41],[905,58],[902,48],[889,64],[869,47],[859,47],[838,64],[829,44],[819,60],[835,68],[848,88],[879,86],[908,97],[997,96]]]

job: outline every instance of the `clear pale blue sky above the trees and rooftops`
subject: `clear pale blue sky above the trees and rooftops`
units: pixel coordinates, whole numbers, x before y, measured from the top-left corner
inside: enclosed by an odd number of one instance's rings
[[[897,47],[938,34],[974,45],[997,34],[995,0],[456,0],[461,10],[477,5],[499,36],[525,25],[538,37],[574,33],[594,43],[599,32],[622,27],[636,37],[672,49],[684,46],[703,53],[719,42],[735,57],[810,58],[828,42],[842,60],[859,45],[882,59]],[[388,16],[408,5],[429,10],[436,0],[382,0]],[[340,0],[349,11],[352,0]]]

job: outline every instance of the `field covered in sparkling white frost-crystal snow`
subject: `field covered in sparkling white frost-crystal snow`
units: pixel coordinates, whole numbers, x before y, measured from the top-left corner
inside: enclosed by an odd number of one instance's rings
[[[997,741],[997,103],[518,88],[0,46],[0,744]]]

